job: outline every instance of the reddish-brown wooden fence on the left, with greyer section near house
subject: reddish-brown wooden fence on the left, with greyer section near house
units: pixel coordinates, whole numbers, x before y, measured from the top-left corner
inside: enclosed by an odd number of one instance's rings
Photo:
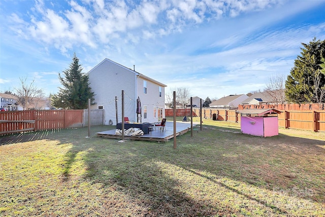
[[[98,111],[100,110],[100,111]],[[87,115],[84,115],[87,113]],[[103,124],[103,109],[91,110],[90,125]],[[94,116],[94,118],[92,118]],[[85,121],[87,117],[87,121]],[[88,110],[0,112],[0,135],[88,126]]]

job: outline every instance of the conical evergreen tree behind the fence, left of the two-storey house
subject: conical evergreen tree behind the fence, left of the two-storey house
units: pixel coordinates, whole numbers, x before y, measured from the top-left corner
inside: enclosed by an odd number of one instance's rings
[[[79,58],[74,53],[70,68],[63,71],[59,79],[63,87],[59,87],[57,95],[52,97],[52,105],[64,109],[85,109],[88,106],[88,99],[92,102],[94,93],[88,84],[88,75],[82,74]]]

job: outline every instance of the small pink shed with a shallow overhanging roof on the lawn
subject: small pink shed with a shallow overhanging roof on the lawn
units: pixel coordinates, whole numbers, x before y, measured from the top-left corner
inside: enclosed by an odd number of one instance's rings
[[[244,109],[240,113],[240,129],[244,134],[270,137],[279,135],[278,114],[276,109]]]

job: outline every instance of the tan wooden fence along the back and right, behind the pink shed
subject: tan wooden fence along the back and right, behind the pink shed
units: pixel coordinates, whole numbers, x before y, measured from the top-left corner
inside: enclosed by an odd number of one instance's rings
[[[173,116],[173,109],[166,110],[172,110],[165,112],[166,116]],[[279,127],[325,132],[325,110],[280,111],[282,113],[278,115]],[[192,112],[193,116],[200,116],[200,109],[194,108]],[[236,113],[236,110],[202,108],[202,118],[240,122],[240,114]]]

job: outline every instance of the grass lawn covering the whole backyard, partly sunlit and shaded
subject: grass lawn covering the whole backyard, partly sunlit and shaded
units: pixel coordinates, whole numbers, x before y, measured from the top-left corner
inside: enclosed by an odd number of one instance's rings
[[[95,135],[114,128],[1,137],[0,216],[325,215],[325,133],[204,119],[176,149]]]

